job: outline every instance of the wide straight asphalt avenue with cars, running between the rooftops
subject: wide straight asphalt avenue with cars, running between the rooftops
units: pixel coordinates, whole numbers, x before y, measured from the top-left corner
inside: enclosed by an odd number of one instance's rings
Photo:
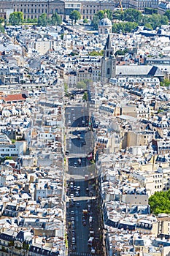
[[[66,222],[70,256],[100,255],[94,135],[88,124],[87,107],[66,108]]]

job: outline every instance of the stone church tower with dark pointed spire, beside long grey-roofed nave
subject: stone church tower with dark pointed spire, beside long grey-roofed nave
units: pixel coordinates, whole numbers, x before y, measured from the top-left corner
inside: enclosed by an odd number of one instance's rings
[[[101,58],[101,82],[107,83],[109,78],[116,77],[116,58],[113,51],[110,34],[108,34],[104,56]]]

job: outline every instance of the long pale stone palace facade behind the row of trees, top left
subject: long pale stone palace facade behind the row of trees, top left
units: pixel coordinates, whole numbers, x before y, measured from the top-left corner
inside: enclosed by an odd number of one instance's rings
[[[9,12],[23,12],[24,18],[39,18],[46,13],[48,17],[57,12],[62,18],[69,17],[73,10],[81,13],[82,18],[93,19],[93,15],[99,10],[114,10],[113,1],[60,1],[60,0],[18,0],[0,2],[0,17],[8,18]]]

